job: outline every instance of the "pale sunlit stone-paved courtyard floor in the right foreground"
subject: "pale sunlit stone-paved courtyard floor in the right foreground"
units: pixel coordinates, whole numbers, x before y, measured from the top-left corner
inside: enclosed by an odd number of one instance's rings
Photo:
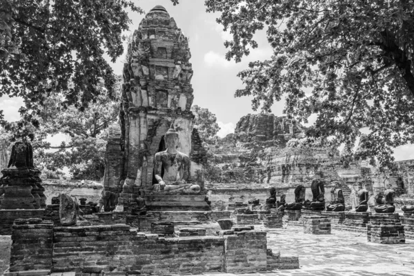
[[[203,225],[204,226],[204,225]],[[206,225],[213,230],[218,224]],[[255,226],[256,230],[265,230]],[[268,248],[282,255],[298,255],[299,269],[275,270],[247,275],[281,276],[371,276],[414,275],[414,240],[406,244],[373,244],[366,235],[333,230],[331,235],[304,234],[299,227],[266,229]],[[10,254],[10,236],[0,236],[0,269],[7,267]],[[7,258],[7,260],[5,259]],[[3,270],[0,270],[0,273]],[[204,275],[233,275],[206,273]]]

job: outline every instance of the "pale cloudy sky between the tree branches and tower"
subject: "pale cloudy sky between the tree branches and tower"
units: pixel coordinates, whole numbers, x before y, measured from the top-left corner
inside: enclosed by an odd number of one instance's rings
[[[248,113],[255,113],[251,109],[251,99],[248,97],[235,98],[237,88],[242,88],[242,81],[237,73],[248,66],[248,62],[263,60],[272,55],[272,49],[266,41],[264,32],[257,34],[259,48],[253,50],[241,63],[226,61],[224,41],[231,39],[231,35],[223,31],[222,26],[216,23],[217,14],[207,13],[203,0],[180,0],[179,5],[173,6],[170,0],[139,0],[137,6],[148,12],[156,5],[166,8],[171,17],[174,17],[177,26],[190,38],[191,59],[194,76],[194,102],[202,108],[208,108],[217,116],[221,130],[219,136],[224,137],[233,132],[240,117]],[[130,12],[132,25],[130,32],[136,30],[143,14]],[[122,72],[122,60],[112,63],[115,74]],[[109,61],[109,59],[108,59]],[[0,100],[0,109],[4,110],[6,119],[19,119],[17,110],[21,100],[3,97]],[[275,115],[282,115],[284,103],[275,103],[272,110]],[[404,146],[395,150],[397,160],[414,159],[414,146]]]

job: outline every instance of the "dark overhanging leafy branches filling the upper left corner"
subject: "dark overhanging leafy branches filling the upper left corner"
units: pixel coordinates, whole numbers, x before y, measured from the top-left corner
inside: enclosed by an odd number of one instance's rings
[[[79,110],[97,101],[101,80],[112,94],[115,77],[103,57],[113,62],[124,52],[127,9],[143,12],[132,0],[0,1],[0,97],[23,98],[19,128],[38,126],[34,115],[59,93],[59,106]]]

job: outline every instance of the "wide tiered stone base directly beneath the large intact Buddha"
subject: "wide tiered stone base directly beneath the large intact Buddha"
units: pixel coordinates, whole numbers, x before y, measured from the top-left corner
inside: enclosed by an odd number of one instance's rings
[[[211,210],[206,195],[152,194],[144,197],[148,211]]]

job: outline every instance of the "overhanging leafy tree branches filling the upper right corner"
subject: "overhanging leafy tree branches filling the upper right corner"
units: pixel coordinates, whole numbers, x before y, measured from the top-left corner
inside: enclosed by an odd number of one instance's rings
[[[393,148],[414,142],[414,2],[409,0],[206,0],[233,34],[227,59],[240,61],[266,30],[274,55],[239,72],[236,97],[253,109],[284,112],[307,123],[308,140],[344,144],[356,158],[393,160]],[[359,141],[359,146],[355,146]],[[371,159],[373,160],[373,159]]]

